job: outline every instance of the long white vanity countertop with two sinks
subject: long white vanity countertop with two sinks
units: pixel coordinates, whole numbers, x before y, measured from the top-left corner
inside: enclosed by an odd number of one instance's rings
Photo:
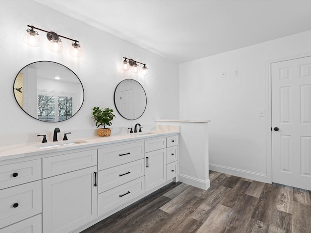
[[[79,138],[76,140],[68,140],[65,142],[73,142],[77,140],[85,141],[83,143],[73,144],[70,146],[59,146],[53,148],[38,148],[38,144],[41,146],[45,146],[45,143],[24,143],[24,144],[15,144],[8,146],[0,146],[0,161],[8,160],[8,159],[17,159],[28,156],[35,155],[44,155],[53,152],[62,152],[73,149],[84,149],[89,147],[97,147],[104,146],[112,143],[120,143],[120,142],[130,142],[138,139],[152,139],[153,137],[158,136],[168,136],[171,134],[180,133],[179,129],[171,129],[170,131],[152,131],[149,133],[120,133],[120,134],[112,134],[109,137],[85,137]],[[59,143],[64,143],[64,141],[58,141]]]

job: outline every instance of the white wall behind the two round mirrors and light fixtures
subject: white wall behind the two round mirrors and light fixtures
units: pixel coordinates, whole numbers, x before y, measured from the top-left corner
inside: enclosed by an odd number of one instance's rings
[[[13,133],[52,132],[59,127],[63,132],[71,129],[96,129],[91,119],[94,106],[115,109],[113,94],[119,82],[127,78],[137,80],[147,94],[144,115],[135,121],[117,116],[112,127],[150,124],[155,118],[179,117],[179,67],[173,63],[100,31],[71,17],[67,17],[37,2],[28,0],[0,1],[0,135]],[[23,41],[28,25],[54,31],[80,41],[83,56],[69,55],[71,41],[62,39],[63,52],[53,53],[46,33],[39,31],[40,47],[30,47]],[[149,75],[142,77],[121,70],[123,56],[146,63]],[[13,83],[18,71],[29,63],[47,60],[69,67],[81,80],[85,100],[81,110],[69,120],[46,123],[26,115],[17,105]],[[72,136],[72,135],[71,135]]]

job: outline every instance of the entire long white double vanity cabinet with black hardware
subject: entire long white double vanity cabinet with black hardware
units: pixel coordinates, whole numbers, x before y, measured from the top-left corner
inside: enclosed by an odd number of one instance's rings
[[[178,134],[129,136],[0,160],[0,233],[79,233],[177,177]]]

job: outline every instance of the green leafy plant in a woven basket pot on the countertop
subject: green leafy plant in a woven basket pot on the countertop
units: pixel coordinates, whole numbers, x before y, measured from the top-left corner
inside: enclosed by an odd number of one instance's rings
[[[93,116],[92,118],[95,121],[95,125],[98,127],[104,126],[104,129],[98,129],[98,135],[103,136],[110,136],[111,130],[110,128],[106,128],[106,126],[111,126],[111,121],[113,118],[116,117],[113,114],[113,110],[110,108],[100,108],[100,107],[94,107],[93,108]]]

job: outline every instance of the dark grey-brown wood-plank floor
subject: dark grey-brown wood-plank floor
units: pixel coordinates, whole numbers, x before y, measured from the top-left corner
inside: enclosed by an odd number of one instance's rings
[[[311,233],[311,192],[210,171],[205,191],[170,183],[83,233]]]

